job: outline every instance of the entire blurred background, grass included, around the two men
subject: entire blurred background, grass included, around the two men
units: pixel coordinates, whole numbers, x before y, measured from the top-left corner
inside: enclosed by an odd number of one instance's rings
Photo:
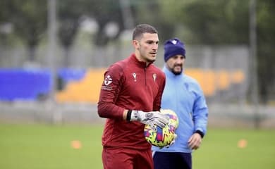
[[[209,130],[194,168],[275,168],[274,0],[1,0],[0,168],[102,168],[97,101],[135,25],[178,37]],[[214,160],[212,160],[214,159]]]

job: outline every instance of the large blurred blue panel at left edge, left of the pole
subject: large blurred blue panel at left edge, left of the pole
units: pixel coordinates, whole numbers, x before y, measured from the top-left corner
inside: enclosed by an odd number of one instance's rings
[[[51,72],[42,69],[0,69],[0,100],[36,100],[51,91]]]

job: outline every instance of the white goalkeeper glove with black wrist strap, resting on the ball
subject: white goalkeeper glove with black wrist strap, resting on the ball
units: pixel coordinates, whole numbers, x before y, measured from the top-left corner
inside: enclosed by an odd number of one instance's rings
[[[159,111],[128,111],[127,120],[139,121],[145,125],[149,125],[152,129],[157,130],[157,126],[163,128],[169,123],[169,116]],[[156,126],[157,125],[157,126]]]

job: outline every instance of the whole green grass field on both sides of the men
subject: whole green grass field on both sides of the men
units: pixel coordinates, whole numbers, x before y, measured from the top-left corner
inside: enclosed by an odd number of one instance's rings
[[[102,125],[0,124],[0,168],[102,168],[102,130]],[[238,147],[240,139],[247,142],[244,148]],[[274,158],[274,130],[209,128],[193,153],[193,169],[274,169]]]

